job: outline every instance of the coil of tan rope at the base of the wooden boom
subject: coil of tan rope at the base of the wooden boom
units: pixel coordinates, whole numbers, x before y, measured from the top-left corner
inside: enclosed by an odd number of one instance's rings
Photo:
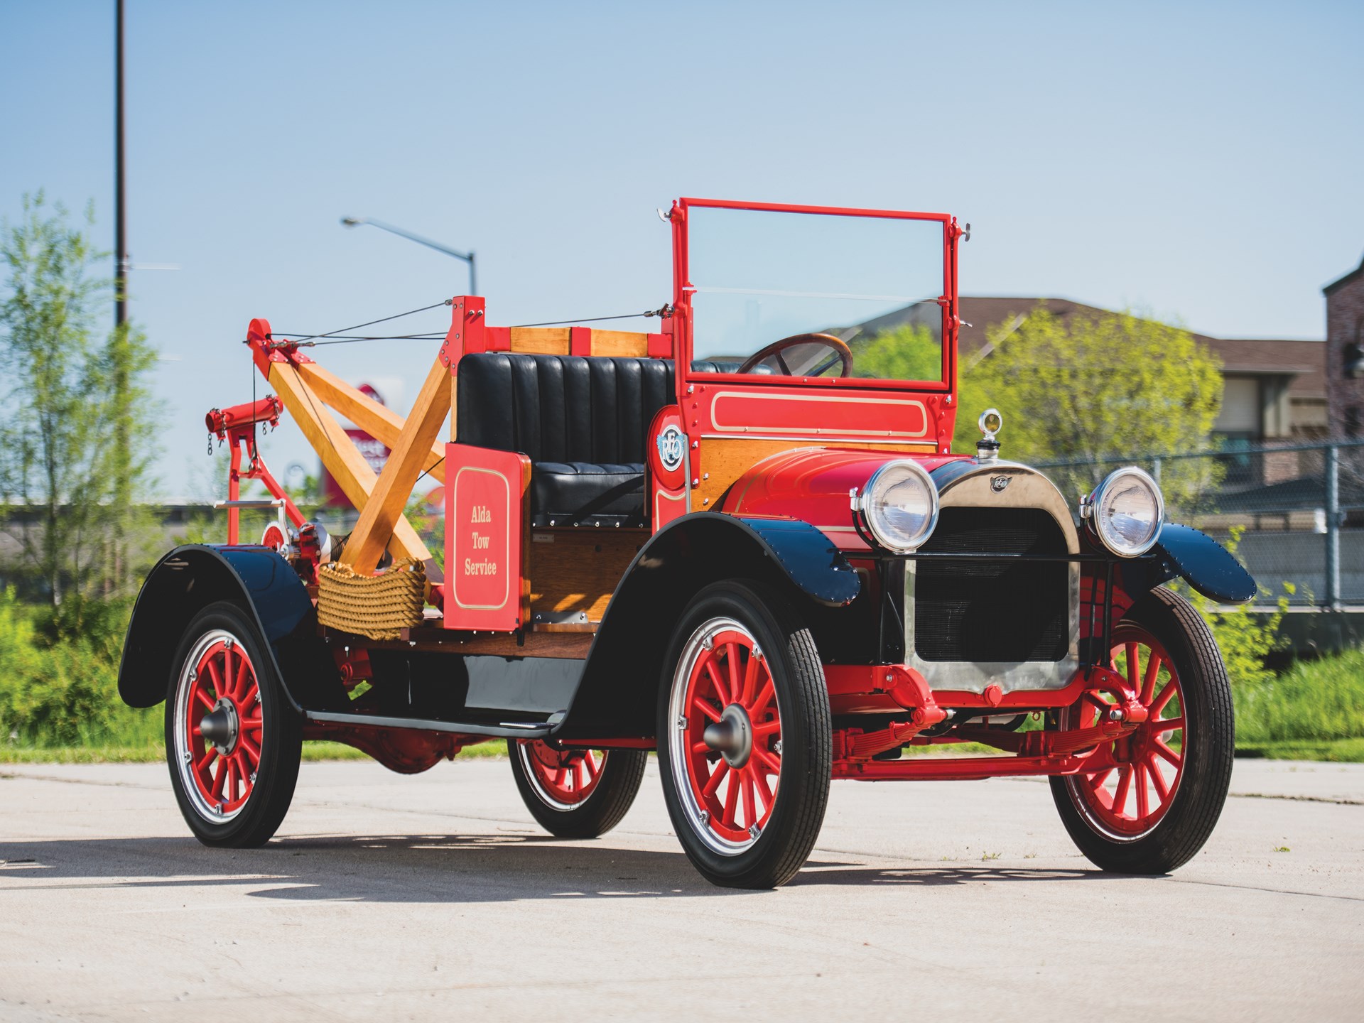
[[[359,576],[349,565],[318,570],[318,621],[370,640],[400,640],[402,629],[421,625],[426,569],[402,558],[375,576]]]

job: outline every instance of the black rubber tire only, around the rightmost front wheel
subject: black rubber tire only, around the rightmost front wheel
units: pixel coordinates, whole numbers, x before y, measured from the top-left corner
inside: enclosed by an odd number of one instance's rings
[[[1052,797],[1080,851],[1103,870],[1163,874],[1187,863],[1207,842],[1232,783],[1236,723],[1232,687],[1217,642],[1187,600],[1155,589],[1114,627],[1114,642],[1142,630],[1165,648],[1178,678],[1184,730],[1181,773],[1163,816],[1148,831],[1116,835],[1097,817],[1079,776],[1053,777]]]

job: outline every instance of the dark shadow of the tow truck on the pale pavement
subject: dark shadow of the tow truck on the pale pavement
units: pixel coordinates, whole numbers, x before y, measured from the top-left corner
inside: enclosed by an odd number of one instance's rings
[[[816,857],[790,884],[978,884],[1099,877],[1012,868],[863,866]],[[192,839],[68,839],[0,843],[0,891],[241,888],[286,902],[488,903],[752,895],[705,881],[686,857],[547,835],[306,836],[263,848],[205,848]],[[70,884],[63,884],[70,881]]]

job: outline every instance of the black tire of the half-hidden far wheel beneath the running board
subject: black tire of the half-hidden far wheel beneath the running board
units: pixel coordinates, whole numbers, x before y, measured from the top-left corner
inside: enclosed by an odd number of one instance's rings
[[[507,739],[507,757],[517,791],[531,816],[551,835],[561,839],[595,839],[611,831],[634,803],[644,780],[647,750],[566,750],[574,761],[584,753],[602,757],[600,777],[585,799],[557,792],[547,780],[535,776],[533,757],[537,753],[558,756],[544,743],[529,739]],[[570,762],[574,762],[570,761]]]

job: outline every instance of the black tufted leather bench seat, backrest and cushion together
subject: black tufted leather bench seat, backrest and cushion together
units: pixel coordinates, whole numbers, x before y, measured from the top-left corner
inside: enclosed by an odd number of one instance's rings
[[[460,443],[531,458],[531,524],[648,525],[644,461],[672,363],[479,352],[458,366]]]

